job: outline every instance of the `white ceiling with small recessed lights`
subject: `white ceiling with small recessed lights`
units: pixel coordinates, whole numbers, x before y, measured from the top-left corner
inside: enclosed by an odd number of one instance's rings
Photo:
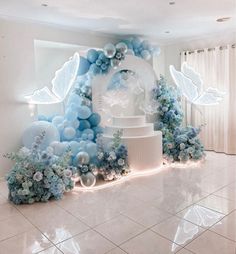
[[[236,0],[0,0],[0,16],[160,44],[236,32]],[[47,6],[43,6],[47,5]],[[227,22],[216,19],[232,17]]]

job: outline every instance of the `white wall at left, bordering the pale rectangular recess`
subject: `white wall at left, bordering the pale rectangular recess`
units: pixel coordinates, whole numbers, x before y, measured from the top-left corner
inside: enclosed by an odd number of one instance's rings
[[[111,38],[33,23],[0,19],[0,177],[10,168],[2,154],[15,151],[35,109],[21,103],[37,88],[34,40],[103,47]]]

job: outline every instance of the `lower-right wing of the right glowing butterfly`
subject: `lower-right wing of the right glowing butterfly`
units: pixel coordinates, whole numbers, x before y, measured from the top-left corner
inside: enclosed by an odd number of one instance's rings
[[[209,87],[204,91],[195,101],[194,104],[198,105],[217,105],[224,97],[223,92],[220,92],[216,88]]]

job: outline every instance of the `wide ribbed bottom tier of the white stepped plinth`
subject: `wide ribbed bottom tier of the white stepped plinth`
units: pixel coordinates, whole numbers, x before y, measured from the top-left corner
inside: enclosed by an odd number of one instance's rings
[[[111,140],[111,135],[103,135]],[[162,165],[162,133],[155,131],[148,136],[122,137],[128,149],[129,165],[132,171],[149,170]]]

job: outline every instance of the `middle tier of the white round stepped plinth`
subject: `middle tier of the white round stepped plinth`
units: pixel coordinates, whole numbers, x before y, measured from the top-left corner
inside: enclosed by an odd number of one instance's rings
[[[122,130],[123,137],[149,136],[154,133],[152,123],[145,123],[141,126],[106,126],[104,133],[112,136],[118,130]]]

